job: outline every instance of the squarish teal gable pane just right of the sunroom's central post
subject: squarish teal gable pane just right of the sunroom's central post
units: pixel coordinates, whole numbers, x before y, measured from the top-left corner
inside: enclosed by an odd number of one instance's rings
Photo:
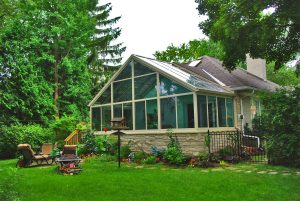
[[[135,99],[156,97],[156,74],[134,78],[134,93]]]

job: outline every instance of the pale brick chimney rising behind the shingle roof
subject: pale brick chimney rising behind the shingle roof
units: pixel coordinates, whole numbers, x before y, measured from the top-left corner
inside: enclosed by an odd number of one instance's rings
[[[246,55],[247,71],[257,77],[267,80],[266,60],[252,59],[249,54]]]

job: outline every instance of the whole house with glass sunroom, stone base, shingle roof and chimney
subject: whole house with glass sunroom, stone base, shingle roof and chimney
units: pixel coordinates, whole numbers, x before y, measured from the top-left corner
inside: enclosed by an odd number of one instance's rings
[[[89,103],[92,129],[110,134],[110,120],[124,117],[129,130],[122,143],[149,151],[167,145],[171,128],[184,153],[197,154],[208,129],[251,127],[261,108],[255,92],[279,87],[266,79],[264,60],[247,57],[247,67],[229,73],[208,56],[172,64],[131,55]]]

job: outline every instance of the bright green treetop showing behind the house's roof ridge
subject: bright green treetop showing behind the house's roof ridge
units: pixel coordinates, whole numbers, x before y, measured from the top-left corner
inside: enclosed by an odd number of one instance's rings
[[[218,58],[220,60],[224,57],[224,51],[219,43],[211,40],[191,40],[187,44],[183,43],[178,47],[171,44],[164,51],[156,51],[154,56],[158,60],[167,62],[188,62],[199,59],[201,56],[207,55]]]

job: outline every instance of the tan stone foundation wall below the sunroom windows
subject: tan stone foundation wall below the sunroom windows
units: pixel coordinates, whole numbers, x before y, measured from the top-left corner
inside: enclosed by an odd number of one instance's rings
[[[205,136],[207,133],[174,134],[186,155],[197,155],[199,152],[207,151]],[[167,134],[126,134],[121,137],[122,145],[129,145],[133,151],[150,152],[152,145],[158,148],[166,148],[169,143]]]

